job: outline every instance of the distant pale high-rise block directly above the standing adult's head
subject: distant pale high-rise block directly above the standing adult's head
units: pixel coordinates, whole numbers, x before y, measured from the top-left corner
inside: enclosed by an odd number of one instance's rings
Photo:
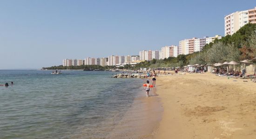
[[[160,59],[161,51],[140,51],[140,60]]]

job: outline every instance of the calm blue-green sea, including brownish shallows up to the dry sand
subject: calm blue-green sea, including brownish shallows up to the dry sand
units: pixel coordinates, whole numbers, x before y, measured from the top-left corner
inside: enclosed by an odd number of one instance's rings
[[[0,139],[143,139],[161,120],[145,79],[117,72],[0,70]],[[11,82],[14,82],[11,85]]]

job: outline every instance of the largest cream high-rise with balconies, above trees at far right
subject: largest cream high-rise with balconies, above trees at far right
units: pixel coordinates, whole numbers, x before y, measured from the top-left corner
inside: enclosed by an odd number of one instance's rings
[[[225,36],[233,35],[243,25],[247,23],[256,23],[256,7],[244,11],[236,11],[224,17]]]

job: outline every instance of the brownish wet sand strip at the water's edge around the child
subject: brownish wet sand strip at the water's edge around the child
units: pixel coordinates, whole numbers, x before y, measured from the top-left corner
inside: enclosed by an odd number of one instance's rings
[[[150,91],[149,97],[146,97],[145,91],[139,91],[139,96],[106,138],[153,139],[163,111],[160,98],[155,91],[155,89]]]

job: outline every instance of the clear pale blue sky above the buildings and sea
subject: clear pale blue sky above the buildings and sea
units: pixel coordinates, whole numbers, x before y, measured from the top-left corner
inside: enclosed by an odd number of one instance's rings
[[[224,16],[255,0],[0,0],[0,69],[139,55],[185,38],[224,36]]]

